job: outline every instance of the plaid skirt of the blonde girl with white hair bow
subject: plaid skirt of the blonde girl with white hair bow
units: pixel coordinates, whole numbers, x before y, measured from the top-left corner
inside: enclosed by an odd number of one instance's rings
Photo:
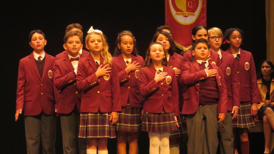
[[[110,114],[111,113],[102,113],[100,111],[97,113],[81,112],[78,137],[116,137],[115,127],[114,125],[110,125]]]

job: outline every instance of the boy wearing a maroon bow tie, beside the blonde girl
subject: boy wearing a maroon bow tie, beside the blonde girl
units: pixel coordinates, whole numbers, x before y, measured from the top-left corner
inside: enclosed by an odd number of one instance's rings
[[[66,33],[63,46],[68,54],[65,58],[56,60],[54,64],[54,85],[58,89],[55,95],[58,95],[59,98],[57,113],[61,120],[64,153],[86,153],[85,139],[77,137],[82,92],[76,86],[76,74],[79,59],[88,56],[79,53],[83,46],[82,39],[83,33],[81,31]]]

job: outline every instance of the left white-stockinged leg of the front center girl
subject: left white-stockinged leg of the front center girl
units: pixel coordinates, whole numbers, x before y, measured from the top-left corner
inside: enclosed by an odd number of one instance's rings
[[[149,154],[159,154],[160,132],[148,132]]]

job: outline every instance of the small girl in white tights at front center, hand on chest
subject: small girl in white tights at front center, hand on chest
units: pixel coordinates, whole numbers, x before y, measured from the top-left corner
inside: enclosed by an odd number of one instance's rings
[[[138,84],[145,100],[142,131],[149,134],[149,153],[158,154],[160,148],[161,154],[169,154],[170,131],[179,127],[176,117],[179,116],[179,103],[177,79],[174,70],[167,67],[163,44],[150,44]]]

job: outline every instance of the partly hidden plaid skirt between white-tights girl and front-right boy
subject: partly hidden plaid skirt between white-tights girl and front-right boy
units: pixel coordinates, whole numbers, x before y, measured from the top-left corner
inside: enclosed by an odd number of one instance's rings
[[[180,113],[181,113],[181,111],[180,111]],[[170,132],[170,138],[172,138],[172,137],[182,137],[184,135],[188,135],[188,130],[187,130],[188,127],[186,126],[186,121],[182,122],[182,119],[181,119],[182,114],[180,114],[179,117],[178,116],[176,116],[176,117],[177,117],[178,125],[180,127],[178,128],[178,126],[176,125],[177,130],[174,130],[174,131]]]

